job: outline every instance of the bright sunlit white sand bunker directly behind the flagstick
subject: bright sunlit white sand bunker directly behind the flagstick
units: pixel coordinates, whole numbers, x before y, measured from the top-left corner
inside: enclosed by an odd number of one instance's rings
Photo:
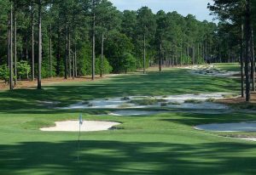
[[[113,121],[84,121],[81,125],[81,131],[105,131],[119,124],[119,122]],[[79,132],[79,121],[56,121],[55,127],[45,127],[40,130],[46,132]]]

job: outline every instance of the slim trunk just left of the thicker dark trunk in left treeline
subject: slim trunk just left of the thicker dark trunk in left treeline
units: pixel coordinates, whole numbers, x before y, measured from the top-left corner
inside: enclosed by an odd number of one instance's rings
[[[32,35],[32,41],[31,41],[31,48],[32,48],[32,76],[31,79],[32,81],[35,80],[35,48],[34,48],[34,7],[33,5],[31,6],[31,35]]]

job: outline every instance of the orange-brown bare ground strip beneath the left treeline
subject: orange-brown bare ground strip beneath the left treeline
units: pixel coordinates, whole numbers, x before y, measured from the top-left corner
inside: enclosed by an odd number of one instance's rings
[[[108,78],[111,76],[118,76],[117,74],[109,74],[105,75],[103,77],[96,76],[96,81],[102,80],[104,78]],[[90,76],[81,76],[77,77],[73,80],[73,78],[67,78],[64,79],[63,77],[53,77],[53,78],[45,78],[42,79],[42,85],[48,85],[48,84],[54,84],[54,83],[62,83],[62,82],[90,82],[91,77]],[[6,90],[9,88],[9,84],[5,83],[3,80],[0,80],[0,90]],[[15,88],[37,88],[37,80],[34,82],[32,81],[27,81],[27,80],[22,80],[18,81],[17,84],[15,85]]]

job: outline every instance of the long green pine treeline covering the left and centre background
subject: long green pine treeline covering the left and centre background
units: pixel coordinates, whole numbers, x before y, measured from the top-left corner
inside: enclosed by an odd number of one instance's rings
[[[0,79],[77,77],[218,60],[218,26],[108,0],[0,0]],[[224,59],[222,61],[225,61]]]

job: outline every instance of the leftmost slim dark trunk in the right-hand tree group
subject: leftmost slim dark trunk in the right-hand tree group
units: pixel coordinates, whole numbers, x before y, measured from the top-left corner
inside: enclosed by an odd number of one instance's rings
[[[241,98],[244,98],[244,71],[243,71],[243,25],[241,25],[241,42],[240,42],[240,70],[241,70]]]

